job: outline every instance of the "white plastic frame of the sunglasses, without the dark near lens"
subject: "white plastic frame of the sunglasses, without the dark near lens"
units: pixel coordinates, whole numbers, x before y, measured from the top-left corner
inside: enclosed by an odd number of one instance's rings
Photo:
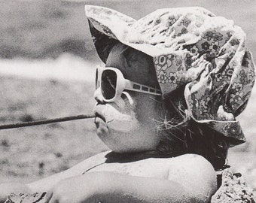
[[[104,71],[114,71],[117,74],[117,83],[115,89],[115,95],[113,98],[107,99],[102,94],[102,74]],[[151,86],[142,85],[140,83],[135,83],[131,80],[127,80],[123,77],[122,72],[113,67],[102,67],[97,66],[96,69],[96,89],[100,88],[100,93],[105,102],[114,102],[117,100],[117,97],[120,98],[124,89],[130,90],[133,92],[141,92],[150,95],[162,95],[160,89],[153,88]]]

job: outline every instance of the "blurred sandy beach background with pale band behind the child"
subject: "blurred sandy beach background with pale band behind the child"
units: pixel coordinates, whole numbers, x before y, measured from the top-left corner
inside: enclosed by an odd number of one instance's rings
[[[0,1],[0,123],[91,113],[94,66],[101,63],[84,5],[113,8],[135,19],[157,8],[202,6],[234,20],[256,57],[255,1]],[[256,189],[256,90],[239,116],[246,144],[229,164]],[[93,120],[0,131],[0,182],[29,182],[65,170],[107,150]]]

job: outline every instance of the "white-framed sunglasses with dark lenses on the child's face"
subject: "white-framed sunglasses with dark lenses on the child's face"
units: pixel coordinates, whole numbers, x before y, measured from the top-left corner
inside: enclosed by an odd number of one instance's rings
[[[116,101],[120,98],[124,89],[150,95],[161,95],[160,89],[127,80],[119,69],[112,67],[97,67],[96,89],[99,88],[105,102]]]

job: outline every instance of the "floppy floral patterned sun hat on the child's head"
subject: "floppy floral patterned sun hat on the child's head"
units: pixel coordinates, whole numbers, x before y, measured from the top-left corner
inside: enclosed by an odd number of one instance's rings
[[[245,142],[235,120],[254,85],[254,62],[245,33],[232,20],[204,8],[167,8],[134,20],[108,8],[87,5],[90,32],[106,61],[120,41],[152,56],[163,98],[184,86],[187,116]]]

